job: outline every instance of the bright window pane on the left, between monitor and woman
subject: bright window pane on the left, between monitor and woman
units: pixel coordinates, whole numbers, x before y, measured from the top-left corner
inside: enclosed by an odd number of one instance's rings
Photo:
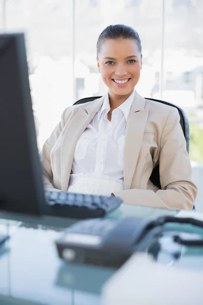
[[[8,32],[25,32],[39,148],[73,104],[72,2],[9,0]],[[46,124],[45,124],[46,122]]]

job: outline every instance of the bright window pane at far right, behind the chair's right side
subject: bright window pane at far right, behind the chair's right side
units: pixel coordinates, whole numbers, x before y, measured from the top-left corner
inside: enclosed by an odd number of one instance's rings
[[[190,124],[190,159],[197,184],[197,210],[202,210],[203,178],[203,1],[165,1],[164,77],[168,71],[176,75],[168,89],[164,83],[163,98],[181,106]]]

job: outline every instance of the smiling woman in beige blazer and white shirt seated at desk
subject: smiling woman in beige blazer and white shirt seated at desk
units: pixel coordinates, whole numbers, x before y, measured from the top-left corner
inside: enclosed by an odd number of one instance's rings
[[[97,42],[97,67],[108,93],[65,109],[42,150],[45,185],[115,195],[124,203],[191,209],[197,189],[174,107],[142,98],[138,33],[110,25]],[[159,164],[161,189],[150,181]]]

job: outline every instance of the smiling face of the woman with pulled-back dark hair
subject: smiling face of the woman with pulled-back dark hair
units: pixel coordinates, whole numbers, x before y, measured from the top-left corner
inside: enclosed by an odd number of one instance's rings
[[[116,96],[130,95],[140,79],[142,58],[136,40],[107,39],[97,58],[101,78]]]

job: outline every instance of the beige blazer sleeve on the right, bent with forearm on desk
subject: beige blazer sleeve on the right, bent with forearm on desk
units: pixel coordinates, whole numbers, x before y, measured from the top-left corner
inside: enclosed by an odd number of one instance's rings
[[[168,114],[160,138],[159,173],[161,190],[150,183],[148,190],[130,189],[114,195],[128,204],[192,209],[197,188],[192,182],[192,167],[175,107]]]

